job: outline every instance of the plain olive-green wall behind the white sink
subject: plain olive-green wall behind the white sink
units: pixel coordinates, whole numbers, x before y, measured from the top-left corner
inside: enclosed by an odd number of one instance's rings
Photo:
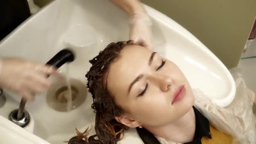
[[[256,0],[141,1],[188,29],[228,68],[237,66],[256,16]]]

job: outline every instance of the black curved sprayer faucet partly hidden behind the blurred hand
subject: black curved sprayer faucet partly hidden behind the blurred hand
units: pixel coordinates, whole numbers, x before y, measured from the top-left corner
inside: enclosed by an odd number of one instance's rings
[[[72,51],[70,51],[69,49],[63,49],[63,50],[59,51],[59,53],[57,53],[55,56],[53,56],[53,58],[50,59],[50,61],[48,61],[46,64],[52,65],[53,67],[58,69],[59,67],[61,67],[66,62],[72,62],[74,60],[75,60],[74,53]],[[47,77],[49,77],[49,76],[50,75],[47,75]],[[24,111],[26,113],[26,110],[24,109],[26,103],[27,103],[27,100],[22,98],[21,102],[20,102],[20,105],[19,105],[19,109],[18,109],[18,115],[17,115],[17,111],[16,111],[17,117],[14,118],[16,120],[15,120],[15,122],[13,120],[11,120],[11,121],[16,123],[16,121],[19,121],[19,120],[22,119],[22,116],[24,115]],[[10,115],[9,115],[9,119],[10,119]],[[11,118],[11,119],[13,119],[13,118]],[[20,124],[18,124],[18,125],[20,125]]]

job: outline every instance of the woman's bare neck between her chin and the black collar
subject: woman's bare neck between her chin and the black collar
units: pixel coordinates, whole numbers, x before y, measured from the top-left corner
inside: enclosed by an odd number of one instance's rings
[[[189,112],[178,120],[160,127],[147,127],[155,136],[160,136],[169,141],[186,143],[193,141],[195,135],[195,112],[191,108]]]

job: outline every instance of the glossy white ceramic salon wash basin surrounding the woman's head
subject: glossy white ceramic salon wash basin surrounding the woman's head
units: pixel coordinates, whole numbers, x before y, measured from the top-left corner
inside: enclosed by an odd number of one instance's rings
[[[221,107],[230,104],[235,96],[235,82],[224,64],[185,28],[155,9],[145,7],[153,20],[155,50],[181,68],[192,88],[201,89]],[[69,77],[86,83],[85,74],[91,66],[88,60],[109,43],[128,40],[128,29],[128,16],[107,0],[55,0],[0,42],[0,56],[19,56],[46,63],[61,49],[69,47],[77,57],[68,66]],[[65,66],[60,70],[67,72]],[[20,101],[20,96],[7,93],[7,102],[0,108],[0,121],[6,122],[2,127],[18,127],[3,118],[18,108]],[[75,136],[75,128],[84,131],[94,123],[92,98],[87,95],[83,104],[70,112],[48,107],[46,93],[36,96],[35,101],[25,107],[34,117],[34,135],[23,131],[20,136],[33,137],[38,139],[35,143],[40,144],[68,141]],[[8,136],[12,138],[13,131],[5,133],[10,133]],[[132,142],[142,144],[135,129],[127,131],[125,139],[119,143]]]

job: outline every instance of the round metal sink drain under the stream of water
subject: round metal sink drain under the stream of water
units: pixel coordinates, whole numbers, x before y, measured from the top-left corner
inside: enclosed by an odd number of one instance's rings
[[[70,84],[72,91],[72,106],[71,109],[69,108],[69,110],[72,110],[83,104],[87,95],[87,90],[85,84],[83,84],[80,80],[71,78]],[[47,104],[49,107],[55,109],[56,111],[67,112],[68,99],[69,90],[67,83],[64,81],[53,83],[48,89],[46,96]]]

